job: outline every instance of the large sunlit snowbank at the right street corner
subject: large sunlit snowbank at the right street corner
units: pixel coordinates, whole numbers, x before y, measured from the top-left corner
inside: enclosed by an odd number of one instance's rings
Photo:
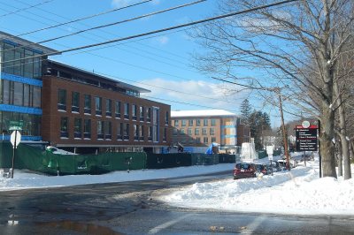
[[[354,169],[352,169],[353,172]],[[174,206],[296,215],[354,215],[354,179],[319,178],[319,163],[263,178],[196,183],[161,197]]]

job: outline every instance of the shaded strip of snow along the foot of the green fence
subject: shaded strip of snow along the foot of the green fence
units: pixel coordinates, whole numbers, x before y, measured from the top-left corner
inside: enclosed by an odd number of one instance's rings
[[[56,187],[56,186],[76,186],[86,184],[126,182],[155,178],[176,178],[183,176],[201,175],[219,171],[230,171],[234,168],[234,163],[210,165],[210,166],[190,166],[164,170],[136,170],[136,171],[114,171],[104,175],[70,175],[70,176],[46,176],[29,171],[13,172],[13,178],[2,178],[0,176],[0,191],[10,191],[25,188]]]

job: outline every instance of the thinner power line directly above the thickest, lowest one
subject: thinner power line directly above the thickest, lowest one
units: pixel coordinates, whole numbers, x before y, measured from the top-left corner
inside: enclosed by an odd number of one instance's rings
[[[149,0],[149,1],[152,1],[152,0]],[[130,22],[130,21],[133,21],[133,20],[136,20],[136,19],[142,19],[142,18],[153,16],[153,15],[157,15],[157,14],[160,14],[160,13],[164,13],[166,11],[173,11],[173,10],[180,9],[180,8],[183,8],[183,7],[186,7],[186,6],[189,6],[189,5],[200,4],[200,3],[205,2],[205,1],[206,0],[199,0],[199,1],[196,1],[196,2],[189,3],[189,4],[182,4],[182,5],[174,6],[174,7],[162,10],[162,11],[151,12],[149,14],[144,14],[142,16],[138,16],[138,17],[131,18],[131,19],[124,19],[124,20],[120,20],[120,21],[113,22],[113,23],[110,23],[110,24],[105,24],[105,25],[98,26],[98,27],[90,27],[90,28],[87,28],[87,29],[83,29],[83,30],[74,32],[72,34],[65,34],[65,35],[58,36],[58,37],[51,38],[51,39],[47,39],[47,40],[44,40],[44,41],[41,41],[41,42],[32,42],[32,43],[28,43],[26,45],[21,45],[18,48],[20,49],[20,48],[24,48],[24,47],[35,45],[35,44],[39,44],[39,43],[51,42],[51,41],[55,41],[55,40],[58,40],[58,39],[65,38],[65,37],[73,36],[73,35],[76,35],[76,34],[82,34],[82,33],[89,32],[89,31],[92,31],[92,30],[95,30],[95,29],[103,28],[103,27],[112,27],[112,26],[115,26],[115,25],[119,25],[119,24]]]

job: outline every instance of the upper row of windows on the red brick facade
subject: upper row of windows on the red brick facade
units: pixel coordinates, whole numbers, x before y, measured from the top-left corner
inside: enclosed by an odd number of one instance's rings
[[[83,113],[91,115],[92,113],[92,97],[91,95],[83,95],[84,98],[84,107],[83,107]],[[105,101],[105,104],[104,104]],[[152,108],[145,108],[143,106],[138,106],[135,104],[129,104],[127,102],[122,103],[119,101],[112,101],[111,99],[103,99],[102,97],[99,96],[94,96],[94,102],[95,102],[95,114],[97,116],[105,116],[105,117],[121,117],[121,114],[123,113],[125,119],[130,119],[130,113],[131,113],[131,118],[133,120],[137,120],[139,117],[140,121],[147,121],[150,122],[151,120],[153,122],[158,122],[158,118],[153,119],[152,116]],[[81,107],[80,107],[80,93],[79,92],[73,92],[72,94],[72,112],[80,113]],[[65,110],[66,111],[66,90],[65,89],[58,89],[58,110]],[[105,110],[103,107],[105,106]],[[113,112],[114,108],[114,112]],[[123,108],[123,112],[121,112]],[[131,112],[130,112],[131,109]],[[165,125],[168,125],[169,122],[169,113],[165,112]]]

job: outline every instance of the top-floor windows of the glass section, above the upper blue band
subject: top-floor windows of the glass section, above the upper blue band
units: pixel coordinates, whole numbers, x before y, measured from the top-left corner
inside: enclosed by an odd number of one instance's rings
[[[12,43],[0,42],[0,47],[1,57],[4,62],[2,72],[31,79],[42,77],[41,57],[35,57],[41,54],[30,49],[21,48]]]

